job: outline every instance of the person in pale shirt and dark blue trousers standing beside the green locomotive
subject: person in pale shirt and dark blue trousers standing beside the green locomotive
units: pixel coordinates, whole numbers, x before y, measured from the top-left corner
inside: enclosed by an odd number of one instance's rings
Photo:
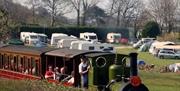
[[[81,58],[79,64],[79,74],[81,75],[81,85],[83,88],[88,88],[88,71],[90,66],[85,58]]]

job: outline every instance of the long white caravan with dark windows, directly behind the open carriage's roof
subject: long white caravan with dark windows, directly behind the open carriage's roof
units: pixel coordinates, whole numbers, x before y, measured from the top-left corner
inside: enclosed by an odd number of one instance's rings
[[[113,45],[100,42],[72,41],[70,49],[115,52]]]

